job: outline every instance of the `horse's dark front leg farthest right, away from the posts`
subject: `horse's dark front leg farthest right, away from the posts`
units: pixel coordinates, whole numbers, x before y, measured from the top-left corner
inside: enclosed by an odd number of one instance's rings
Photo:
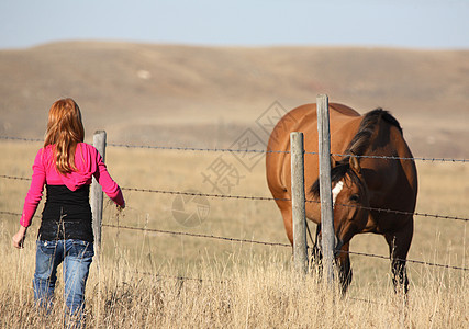
[[[407,258],[409,248],[411,247],[413,232],[414,223],[411,219],[401,230],[392,234],[384,234],[391,257],[392,283],[394,284],[394,291],[399,292],[400,290],[403,290],[404,294],[409,291],[405,260]]]

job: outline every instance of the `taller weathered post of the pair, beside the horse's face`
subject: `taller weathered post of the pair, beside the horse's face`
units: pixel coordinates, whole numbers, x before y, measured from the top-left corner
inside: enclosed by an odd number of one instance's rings
[[[327,284],[334,282],[334,209],[331,191],[331,133],[328,99],[317,95],[317,133],[320,151],[321,234],[323,251],[323,275]]]

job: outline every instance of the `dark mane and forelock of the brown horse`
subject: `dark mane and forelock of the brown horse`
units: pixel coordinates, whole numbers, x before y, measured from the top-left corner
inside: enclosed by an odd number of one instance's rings
[[[375,131],[380,120],[383,120],[390,125],[395,126],[402,134],[401,125],[388,111],[384,111],[379,107],[365,114],[364,118],[361,120],[360,126],[358,127],[357,134],[354,136],[354,138],[351,138],[351,141],[348,144],[348,147],[345,150],[345,156],[339,161],[337,161],[335,167],[331,170],[331,180],[333,185],[339,182],[348,173],[351,183],[357,184],[358,186],[360,186],[360,189],[362,189],[362,183],[360,179],[350,168],[350,157],[365,155],[368,147],[370,146],[371,137],[375,134]],[[311,186],[311,193],[314,196],[320,195],[319,179]]]

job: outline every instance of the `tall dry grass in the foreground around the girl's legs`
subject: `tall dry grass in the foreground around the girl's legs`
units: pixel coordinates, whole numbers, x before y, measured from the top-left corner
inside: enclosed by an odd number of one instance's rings
[[[63,287],[54,311],[41,315],[32,300],[32,253],[20,256],[3,247],[3,260],[15,266],[1,272],[1,327],[62,328]],[[300,277],[279,265],[275,252],[242,263],[232,258],[228,271],[226,262],[190,269],[189,279],[174,277],[170,266],[153,276],[135,273],[130,263],[104,261],[100,271],[94,265],[87,287],[87,327],[467,328],[466,282],[443,284],[435,270],[423,273],[425,286],[413,286],[405,300],[389,286],[364,288],[361,298],[342,297],[315,275]]]

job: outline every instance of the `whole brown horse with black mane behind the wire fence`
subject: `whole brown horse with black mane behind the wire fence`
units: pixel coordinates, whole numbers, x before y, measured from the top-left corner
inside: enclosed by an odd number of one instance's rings
[[[383,235],[389,246],[394,288],[407,291],[405,259],[413,235],[417,173],[399,122],[387,111],[365,115],[340,104],[330,104],[332,188],[336,261],[344,292],[351,281],[349,241],[356,234]],[[290,133],[304,134],[306,217],[321,224],[316,105],[306,104],[286,114],[273,128],[267,150],[289,151]],[[268,152],[267,182],[293,243],[291,158]],[[400,159],[392,159],[392,157]],[[380,212],[392,209],[397,212]],[[320,228],[320,226],[319,226]]]

